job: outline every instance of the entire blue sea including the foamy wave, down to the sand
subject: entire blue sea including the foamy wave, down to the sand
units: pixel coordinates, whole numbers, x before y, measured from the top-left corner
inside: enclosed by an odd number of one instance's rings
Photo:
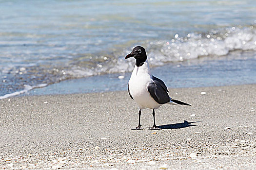
[[[146,48],[155,74],[173,67],[198,75],[195,84],[164,77],[174,87],[213,85],[227,72],[233,78],[219,85],[255,83],[256,1],[0,0],[0,98],[38,87],[40,94],[54,86],[108,91],[116,79],[113,90],[122,90],[134,67],[123,58],[136,45]],[[207,61],[219,70],[213,79]]]

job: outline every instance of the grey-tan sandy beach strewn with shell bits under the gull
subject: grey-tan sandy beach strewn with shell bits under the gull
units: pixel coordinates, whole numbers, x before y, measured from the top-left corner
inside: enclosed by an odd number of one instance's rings
[[[256,169],[256,85],[170,92],[158,131],[127,91],[0,100],[0,169]]]

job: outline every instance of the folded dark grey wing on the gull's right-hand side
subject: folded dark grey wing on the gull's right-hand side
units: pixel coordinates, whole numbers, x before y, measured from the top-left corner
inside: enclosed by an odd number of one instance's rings
[[[156,102],[158,102],[159,104],[164,104],[170,102],[170,97],[167,93],[168,90],[166,85],[162,84],[161,82],[155,79],[153,83],[148,84],[147,89],[148,92],[150,93],[150,96]]]

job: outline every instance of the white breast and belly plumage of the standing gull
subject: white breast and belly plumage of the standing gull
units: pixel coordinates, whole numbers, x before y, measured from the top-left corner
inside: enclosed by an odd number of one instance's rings
[[[147,85],[152,83],[152,76],[150,73],[150,68],[148,61],[146,60],[144,64],[140,67],[135,66],[131,78],[129,80],[130,93],[139,105],[139,108],[150,108],[156,109],[161,106],[156,102],[147,90]]]

